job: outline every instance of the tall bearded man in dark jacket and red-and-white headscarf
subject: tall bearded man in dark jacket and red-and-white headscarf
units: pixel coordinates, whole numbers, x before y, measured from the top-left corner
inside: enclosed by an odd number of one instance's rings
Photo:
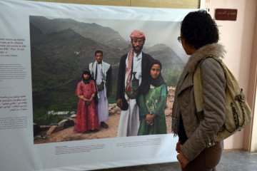
[[[138,85],[140,85],[142,81],[149,79],[149,67],[153,61],[150,55],[142,51],[146,41],[144,33],[134,30],[130,37],[131,51],[121,56],[119,64],[116,100],[117,105],[121,108],[121,118],[117,137],[136,136],[138,134],[139,108],[131,82],[138,80]]]

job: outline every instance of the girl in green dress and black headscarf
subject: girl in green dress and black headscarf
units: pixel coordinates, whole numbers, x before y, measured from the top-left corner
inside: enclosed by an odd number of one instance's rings
[[[154,60],[149,71],[151,78],[138,90],[140,126],[138,135],[166,134],[164,110],[167,101],[167,86],[161,76],[161,62]]]

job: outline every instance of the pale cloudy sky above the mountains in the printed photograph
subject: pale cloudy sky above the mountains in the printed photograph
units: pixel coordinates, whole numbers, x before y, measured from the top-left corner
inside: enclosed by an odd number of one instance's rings
[[[48,17],[54,19],[55,17]],[[133,30],[143,31],[146,35],[146,47],[164,43],[175,51],[181,59],[186,62],[188,56],[183,51],[181,43],[177,38],[180,36],[181,21],[139,21],[139,20],[119,20],[119,19],[86,19],[69,18],[84,23],[95,23],[104,27],[112,28],[126,40],[130,41],[129,35]]]

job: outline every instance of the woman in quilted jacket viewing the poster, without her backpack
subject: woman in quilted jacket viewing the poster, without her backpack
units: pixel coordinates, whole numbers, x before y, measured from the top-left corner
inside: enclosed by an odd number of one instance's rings
[[[176,151],[183,171],[216,170],[221,159],[223,140],[213,138],[226,117],[226,78],[218,61],[205,58],[223,58],[226,51],[218,39],[218,26],[207,11],[193,11],[183,19],[178,41],[190,58],[176,86],[172,113],[172,132],[178,135]],[[193,75],[200,61],[204,106],[201,123],[193,91]]]

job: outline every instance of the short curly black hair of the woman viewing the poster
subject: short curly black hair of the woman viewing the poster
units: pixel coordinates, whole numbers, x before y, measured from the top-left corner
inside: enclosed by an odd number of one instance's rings
[[[188,13],[181,22],[181,37],[190,46],[198,49],[211,43],[217,43],[218,26],[205,10]]]

